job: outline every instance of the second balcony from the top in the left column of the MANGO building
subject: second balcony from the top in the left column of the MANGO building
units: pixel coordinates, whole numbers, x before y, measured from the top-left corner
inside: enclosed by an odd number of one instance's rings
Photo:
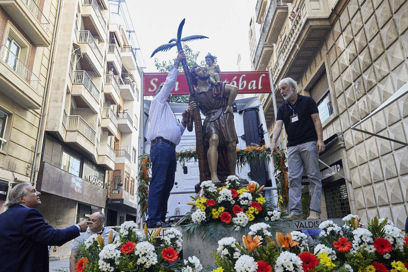
[[[99,70],[100,75],[103,74],[103,55],[99,50],[98,44],[93,39],[92,33],[89,30],[80,30],[78,43],[81,46],[81,53],[86,55],[86,58],[91,62],[92,66]]]

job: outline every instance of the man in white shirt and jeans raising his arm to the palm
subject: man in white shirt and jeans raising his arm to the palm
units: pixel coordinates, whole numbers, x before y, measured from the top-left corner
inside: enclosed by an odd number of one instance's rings
[[[165,223],[167,201],[174,185],[176,171],[175,147],[180,143],[181,136],[187,125],[187,110],[182,113],[180,123],[170,108],[171,91],[177,80],[180,62],[186,58],[184,51],[178,52],[173,66],[163,86],[157,88],[149,110],[149,131],[147,140],[150,142],[150,160],[152,162],[152,178],[147,199],[147,226],[149,228],[167,228]]]

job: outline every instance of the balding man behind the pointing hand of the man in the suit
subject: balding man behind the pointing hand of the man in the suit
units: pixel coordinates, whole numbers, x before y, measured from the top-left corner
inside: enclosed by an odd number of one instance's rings
[[[90,217],[89,221],[92,224],[86,229],[85,232],[80,234],[80,237],[76,238],[71,244],[71,256],[69,257],[69,271],[75,272],[75,256],[79,253],[78,245],[84,243],[91,235],[101,234],[104,239],[105,245],[108,243],[109,232],[111,228],[104,228],[103,223],[105,222],[105,216],[102,212],[94,212]],[[113,230],[112,241],[115,240],[117,232]]]

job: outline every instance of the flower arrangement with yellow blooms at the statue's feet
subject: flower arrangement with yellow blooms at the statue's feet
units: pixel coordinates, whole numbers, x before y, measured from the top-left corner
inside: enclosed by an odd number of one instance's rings
[[[228,231],[246,231],[248,224],[270,222],[281,219],[281,212],[261,194],[264,186],[249,181],[241,187],[236,176],[228,176],[224,187],[217,188],[211,180],[201,184],[200,198],[187,204],[195,206],[195,211],[186,215],[184,231],[199,231],[203,238],[215,241],[224,237]],[[197,230],[200,228],[200,230]]]

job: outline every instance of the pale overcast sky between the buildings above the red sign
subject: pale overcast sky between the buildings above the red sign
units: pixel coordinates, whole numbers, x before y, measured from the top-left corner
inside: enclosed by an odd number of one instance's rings
[[[160,61],[176,57],[177,49],[151,54],[157,46],[177,38],[177,28],[186,18],[182,38],[204,35],[209,39],[188,42],[193,51],[200,51],[197,62],[210,52],[217,57],[221,71],[237,71],[238,53],[241,71],[250,71],[248,31],[256,0],[154,0],[126,1],[133,27],[146,64],[145,72],[157,71],[154,58]]]

